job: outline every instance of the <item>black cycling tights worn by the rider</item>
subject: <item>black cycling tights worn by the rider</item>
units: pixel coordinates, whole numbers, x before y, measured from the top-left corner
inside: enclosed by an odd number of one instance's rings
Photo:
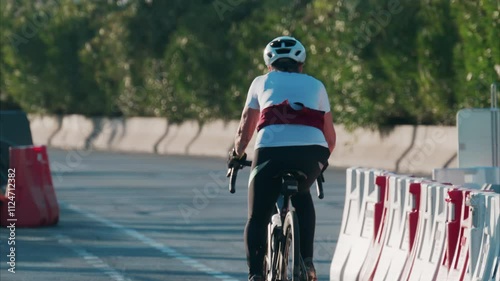
[[[316,214],[309,187],[328,163],[330,151],[319,145],[265,147],[255,151],[248,189],[248,222],[245,246],[249,273],[261,274],[265,253],[267,223],[273,214],[281,189],[277,176],[285,169],[300,170],[307,180],[299,182],[299,192],[291,200],[300,228],[303,258],[312,258]]]

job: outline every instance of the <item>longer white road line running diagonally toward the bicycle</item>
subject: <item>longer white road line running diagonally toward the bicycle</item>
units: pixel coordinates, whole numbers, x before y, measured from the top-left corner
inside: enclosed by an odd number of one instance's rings
[[[77,212],[81,215],[84,215],[90,219],[98,221],[107,227],[114,228],[116,230],[120,230],[120,231],[124,232],[125,234],[127,234],[128,236],[133,237],[133,238],[141,241],[142,243],[150,246],[151,248],[154,248],[162,253],[165,253],[172,258],[178,259],[179,261],[181,261],[185,265],[190,266],[197,271],[203,272],[207,275],[211,275],[212,277],[220,279],[222,281],[238,281],[238,279],[231,277],[229,275],[226,275],[226,274],[224,274],[220,271],[217,271],[213,268],[210,268],[210,267],[202,264],[201,262],[197,261],[196,259],[191,258],[189,256],[186,256],[186,255],[172,249],[171,247],[169,247],[167,245],[163,245],[162,243],[159,243],[159,242],[139,233],[138,231],[136,231],[134,229],[126,228],[122,225],[114,223],[108,219],[99,217],[95,214],[92,214],[90,212],[82,210],[82,209],[78,208],[77,206],[74,206],[71,204],[60,202],[60,205],[63,207],[66,207],[74,212]]]

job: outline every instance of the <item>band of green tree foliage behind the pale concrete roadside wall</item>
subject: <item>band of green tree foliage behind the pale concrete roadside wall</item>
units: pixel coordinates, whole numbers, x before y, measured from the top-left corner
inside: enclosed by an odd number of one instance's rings
[[[453,124],[500,80],[492,0],[2,0],[1,108],[238,118],[262,50],[300,39],[348,127]]]

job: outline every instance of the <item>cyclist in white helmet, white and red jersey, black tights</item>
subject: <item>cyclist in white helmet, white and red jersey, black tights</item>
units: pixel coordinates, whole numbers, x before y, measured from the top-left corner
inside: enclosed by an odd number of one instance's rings
[[[281,36],[264,49],[269,72],[255,78],[248,91],[228,165],[246,159],[245,149],[255,129],[255,156],[249,179],[248,221],[244,239],[249,280],[264,280],[267,224],[279,196],[276,175],[298,169],[307,175],[292,198],[300,225],[300,250],[309,280],[317,280],[313,265],[316,214],[309,191],[335,148],[336,133],[326,89],[319,80],[302,74],[304,46]]]

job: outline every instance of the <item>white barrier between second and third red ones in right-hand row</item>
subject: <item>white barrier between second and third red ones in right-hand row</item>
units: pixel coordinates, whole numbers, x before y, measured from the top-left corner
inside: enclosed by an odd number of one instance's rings
[[[435,182],[422,182],[420,187],[420,209],[415,244],[399,280],[435,280],[435,274],[445,249],[448,215],[445,198],[450,186]]]

